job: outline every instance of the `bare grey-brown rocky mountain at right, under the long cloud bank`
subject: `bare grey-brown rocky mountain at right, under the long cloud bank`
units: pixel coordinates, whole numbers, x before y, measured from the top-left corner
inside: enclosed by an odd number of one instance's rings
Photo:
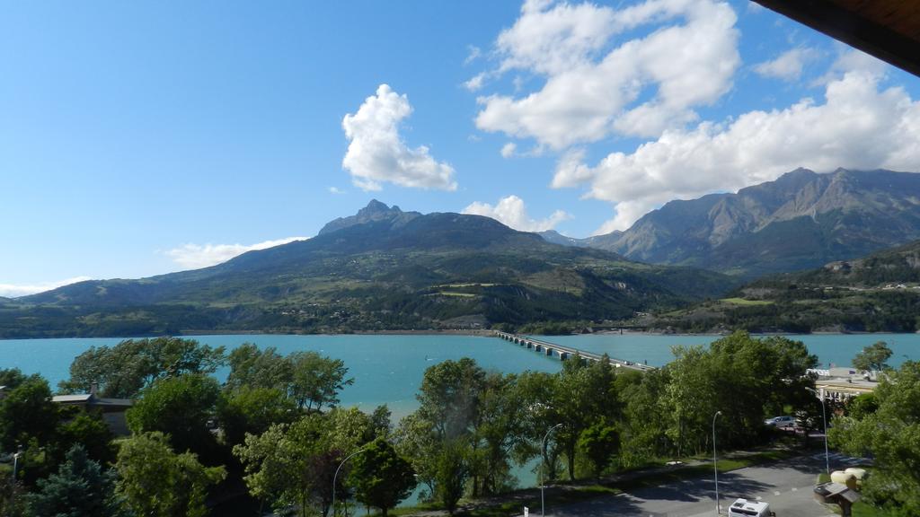
[[[753,278],[816,268],[917,238],[920,175],[799,168],[737,193],[670,201],[625,232],[570,245]]]

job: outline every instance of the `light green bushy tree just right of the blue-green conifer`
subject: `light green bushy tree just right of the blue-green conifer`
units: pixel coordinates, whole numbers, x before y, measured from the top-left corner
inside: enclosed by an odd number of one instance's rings
[[[162,432],[120,442],[117,493],[144,517],[203,517],[208,488],[224,479],[223,466],[205,467],[195,454],[176,454]]]

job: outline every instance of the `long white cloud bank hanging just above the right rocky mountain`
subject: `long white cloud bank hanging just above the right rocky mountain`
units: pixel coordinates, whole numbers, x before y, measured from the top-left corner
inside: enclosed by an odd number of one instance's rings
[[[832,70],[867,63],[844,55]],[[751,111],[720,123],[664,132],[635,152],[612,153],[596,166],[571,152],[558,163],[553,186],[587,185],[586,197],[615,203],[599,229],[625,229],[665,201],[776,179],[796,167],[916,170],[920,163],[920,102],[900,87],[881,88],[876,64],[830,80],[824,102],[802,98],[786,109]]]

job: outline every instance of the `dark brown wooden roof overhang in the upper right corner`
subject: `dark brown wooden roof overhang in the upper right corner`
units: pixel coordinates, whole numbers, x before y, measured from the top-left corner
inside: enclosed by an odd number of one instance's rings
[[[753,0],[920,75],[920,0]]]

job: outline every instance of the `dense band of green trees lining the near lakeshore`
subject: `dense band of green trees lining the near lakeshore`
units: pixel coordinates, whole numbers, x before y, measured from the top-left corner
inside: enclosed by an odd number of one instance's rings
[[[705,452],[717,410],[725,448],[768,440],[765,416],[820,414],[805,389],[817,360],[798,341],[739,333],[674,353],[650,373],[606,360],[521,374],[441,362],[424,374],[419,408],[393,426],[385,406],[340,408],[347,368],[315,352],[126,340],[81,354],[61,384],[80,392],[98,382],[102,395],[136,398],[132,435],[114,442],[98,414],[63,415],[40,377],[0,371],[9,386],[0,447],[23,450],[17,486],[0,500],[12,515],[55,505],[86,505],[72,515],[206,515],[232,498],[236,509],[251,501],[252,512],[328,515],[336,478],[337,504],[357,500],[385,514],[419,483],[423,499],[453,512],[463,498],[514,488],[515,465],[576,479]],[[223,364],[221,385],[210,373]],[[63,487],[79,483],[98,489],[66,500]]]

